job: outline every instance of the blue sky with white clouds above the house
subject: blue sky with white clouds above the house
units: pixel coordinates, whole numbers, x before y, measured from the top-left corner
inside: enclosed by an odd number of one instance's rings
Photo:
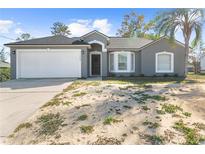
[[[115,36],[125,14],[135,11],[144,15],[145,21],[149,21],[166,10],[168,9],[0,9],[0,49],[3,44],[14,41],[22,33],[30,33],[34,38],[49,36],[50,27],[56,21],[68,25],[72,36],[81,36],[92,30]],[[181,33],[177,33],[176,39],[183,42]]]

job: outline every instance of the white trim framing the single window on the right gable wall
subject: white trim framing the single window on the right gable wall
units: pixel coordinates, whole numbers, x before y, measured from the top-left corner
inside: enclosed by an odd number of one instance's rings
[[[171,55],[171,70],[164,70],[164,71],[158,70],[158,55],[162,55],[162,54]],[[155,72],[156,73],[174,73],[174,53],[167,52],[167,51],[157,52],[155,54]]]

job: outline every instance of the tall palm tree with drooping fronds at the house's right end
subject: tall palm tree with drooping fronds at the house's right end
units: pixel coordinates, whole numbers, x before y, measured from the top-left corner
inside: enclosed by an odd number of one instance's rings
[[[174,9],[169,12],[163,12],[158,17],[156,29],[159,34],[168,35],[173,41],[176,32],[181,30],[185,42],[185,76],[187,75],[189,43],[192,32],[194,35],[194,46],[201,40],[202,26],[204,22],[203,9]]]

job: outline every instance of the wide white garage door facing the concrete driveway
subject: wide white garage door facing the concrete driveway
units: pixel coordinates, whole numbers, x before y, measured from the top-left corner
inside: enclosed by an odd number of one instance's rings
[[[80,49],[17,50],[17,78],[81,77]]]

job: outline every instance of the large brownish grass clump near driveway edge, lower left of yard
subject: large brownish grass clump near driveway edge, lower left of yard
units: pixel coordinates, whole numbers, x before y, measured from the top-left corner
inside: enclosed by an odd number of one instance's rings
[[[42,115],[36,122],[40,125],[39,135],[55,135],[60,127],[66,125],[63,124],[64,118],[59,113]]]

